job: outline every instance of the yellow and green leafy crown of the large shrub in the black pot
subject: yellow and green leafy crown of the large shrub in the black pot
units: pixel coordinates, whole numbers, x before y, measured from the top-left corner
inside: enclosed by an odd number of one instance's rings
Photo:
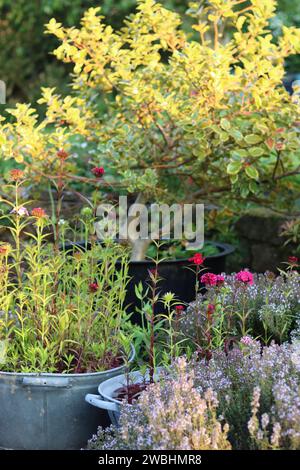
[[[80,28],[51,19],[47,37],[59,40],[54,55],[73,67],[73,91],[42,88],[43,118],[31,105],[7,110],[4,161],[17,161],[36,184],[57,183],[63,149],[66,186],[84,184],[90,164],[101,164],[106,195],[213,203],[224,215],[257,204],[295,210],[299,99],[282,78],[300,34],[284,27],[274,41],[275,9],[273,0],[191,2],[189,32],[154,0],[140,0],[119,31],[99,8]],[[78,154],[76,139],[86,151]],[[148,246],[133,250],[133,259]]]

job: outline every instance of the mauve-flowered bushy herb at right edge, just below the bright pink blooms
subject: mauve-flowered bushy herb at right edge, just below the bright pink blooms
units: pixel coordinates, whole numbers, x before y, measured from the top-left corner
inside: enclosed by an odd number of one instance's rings
[[[300,314],[300,276],[289,270],[275,277],[255,274],[247,285],[236,275],[224,275],[217,286],[206,285],[182,315],[183,334],[204,348],[232,346],[242,336],[250,335],[264,344],[282,343],[290,338]]]

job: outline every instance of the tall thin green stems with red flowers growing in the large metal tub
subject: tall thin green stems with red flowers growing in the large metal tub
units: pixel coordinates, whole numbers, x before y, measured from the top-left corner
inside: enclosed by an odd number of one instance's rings
[[[122,365],[130,355],[126,250],[93,238],[89,250],[64,249],[63,236],[49,243],[51,219],[42,208],[28,212],[21,184],[14,183],[13,203],[3,201],[12,244],[0,245],[1,370],[82,373]]]

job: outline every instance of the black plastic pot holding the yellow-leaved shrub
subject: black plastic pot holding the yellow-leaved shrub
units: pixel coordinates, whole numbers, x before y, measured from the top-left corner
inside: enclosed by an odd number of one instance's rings
[[[225,243],[210,242],[219,253],[208,256],[204,261],[205,271],[220,274],[226,271],[226,258],[235,250],[233,246]],[[172,292],[182,304],[195,300],[196,275],[191,269],[192,263],[187,259],[162,261],[158,266],[158,275],[161,281],[158,284],[160,297],[167,292]],[[129,265],[130,281],[128,283],[126,305],[128,312],[132,313],[131,320],[141,324],[141,315],[136,308],[141,308],[141,301],[135,295],[135,286],[140,282],[144,290],[149,286],[149,271],[155,268],[152,261],[131,261]],[[156,312],[162,312],[162,304],[158,304]]]

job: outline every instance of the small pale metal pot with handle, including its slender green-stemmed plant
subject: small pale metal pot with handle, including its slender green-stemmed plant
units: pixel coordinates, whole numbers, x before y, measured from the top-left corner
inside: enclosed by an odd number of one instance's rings
[[[201,255],[198,255],[201,257]],[[139,346],[139,371],[117,375],[99,384],[98,395],[88,393],[85,400],[90,405],[107,410],[111,422],[118,425],[122,402],[128,405],[140,397],[150,385],[159,382],[172,361],[182,354],[189,353],[185,348],[187,338],[180,331],[180,322],[185,307],[181,305],[173,293],[160,295],[159,262],[149,272],[149,296],[144,294],[143,285],[136,286],[136,296],[141,302],[139,310],[142,315],[142,327],[134,331],[135,342]],[[196,266],[196,275],[200,273],[200,265]],[[157,313],[160,305],[163,313]],[[144,354],[141,354],[141,351]]]

